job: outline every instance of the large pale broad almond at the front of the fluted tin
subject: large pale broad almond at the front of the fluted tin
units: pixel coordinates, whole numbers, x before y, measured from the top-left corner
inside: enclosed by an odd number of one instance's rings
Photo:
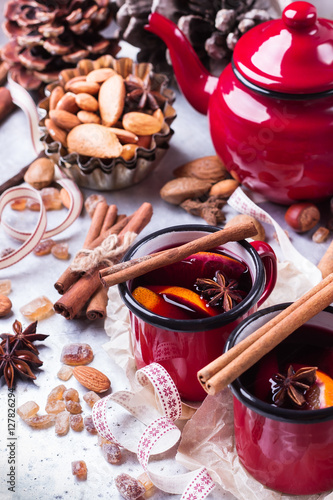
[[[104,125],[84,123],[73,128],[67,137],[70,153],[97,158],[116,158],[122,146],[113,132]]]

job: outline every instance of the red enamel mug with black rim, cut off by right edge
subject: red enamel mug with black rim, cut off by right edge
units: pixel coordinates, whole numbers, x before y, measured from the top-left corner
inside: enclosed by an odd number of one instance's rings
[[[229,337],[226,350],[267,323],[290,304],[261,309],[246,318]],[[283,345],[284,344],[284,345]],[[231,385],[234,399],[234,432],[239,459],[265,486],[291,495],[319,494],[333,489],[333,406],[294,409],[274,406],[258,397],[263,369],[274,365],[282,353],[301,358],[333,377],[333,308],[328,307],[292,333],[253,368]],[[268,356],[268,355],[267,355]],[[261,364],[259,364],[261,363]],[[274,371],[275,371],[274,367]],[[318,373],[318,371],[317,371]],[[258,375],[260,374],[260,376]],[[269,377],[265,376],[268,381]],[[251,385],[255,380],[256,385]],[[251,390],[251,388],[256,388]],[[327,397],[327,396],[326,396]],[[332,391],[331,391],[332,397]]]

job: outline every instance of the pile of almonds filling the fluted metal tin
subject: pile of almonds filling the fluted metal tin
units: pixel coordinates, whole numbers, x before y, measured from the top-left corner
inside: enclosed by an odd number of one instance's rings
[[[123,78],[111,67],[93,69],[55,86],[45,119],[52,139],[69,153],[102,159],[131,160],[139,146],[149,148],[152,135],[163,128],[163,106],[151,109],[138,103],[134,110],[127,106],[133,82],[139,92],[149,94],[149,82],[133,74]],[[165,100],[160,95],[159,102]]]

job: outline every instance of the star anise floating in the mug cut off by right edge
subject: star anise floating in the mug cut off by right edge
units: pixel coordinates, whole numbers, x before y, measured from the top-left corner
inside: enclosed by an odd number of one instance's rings
[[[297,407],[301,407],[306,402],[305,393],[315,383],[316,370],[314,366],[305,366],[295,372],[292,365],[289,366],[287,375],[276,373],[272,376],[274,381],[273,402],[277,406],[287,405],[292,403]]]

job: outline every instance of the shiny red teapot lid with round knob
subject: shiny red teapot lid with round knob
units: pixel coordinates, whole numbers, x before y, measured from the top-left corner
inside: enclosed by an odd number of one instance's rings
[[[288,5],[281,19],[259,24],[237,42],[233,64],[270,91],[313,94],[333,89],[333,22],[308,2]]]

